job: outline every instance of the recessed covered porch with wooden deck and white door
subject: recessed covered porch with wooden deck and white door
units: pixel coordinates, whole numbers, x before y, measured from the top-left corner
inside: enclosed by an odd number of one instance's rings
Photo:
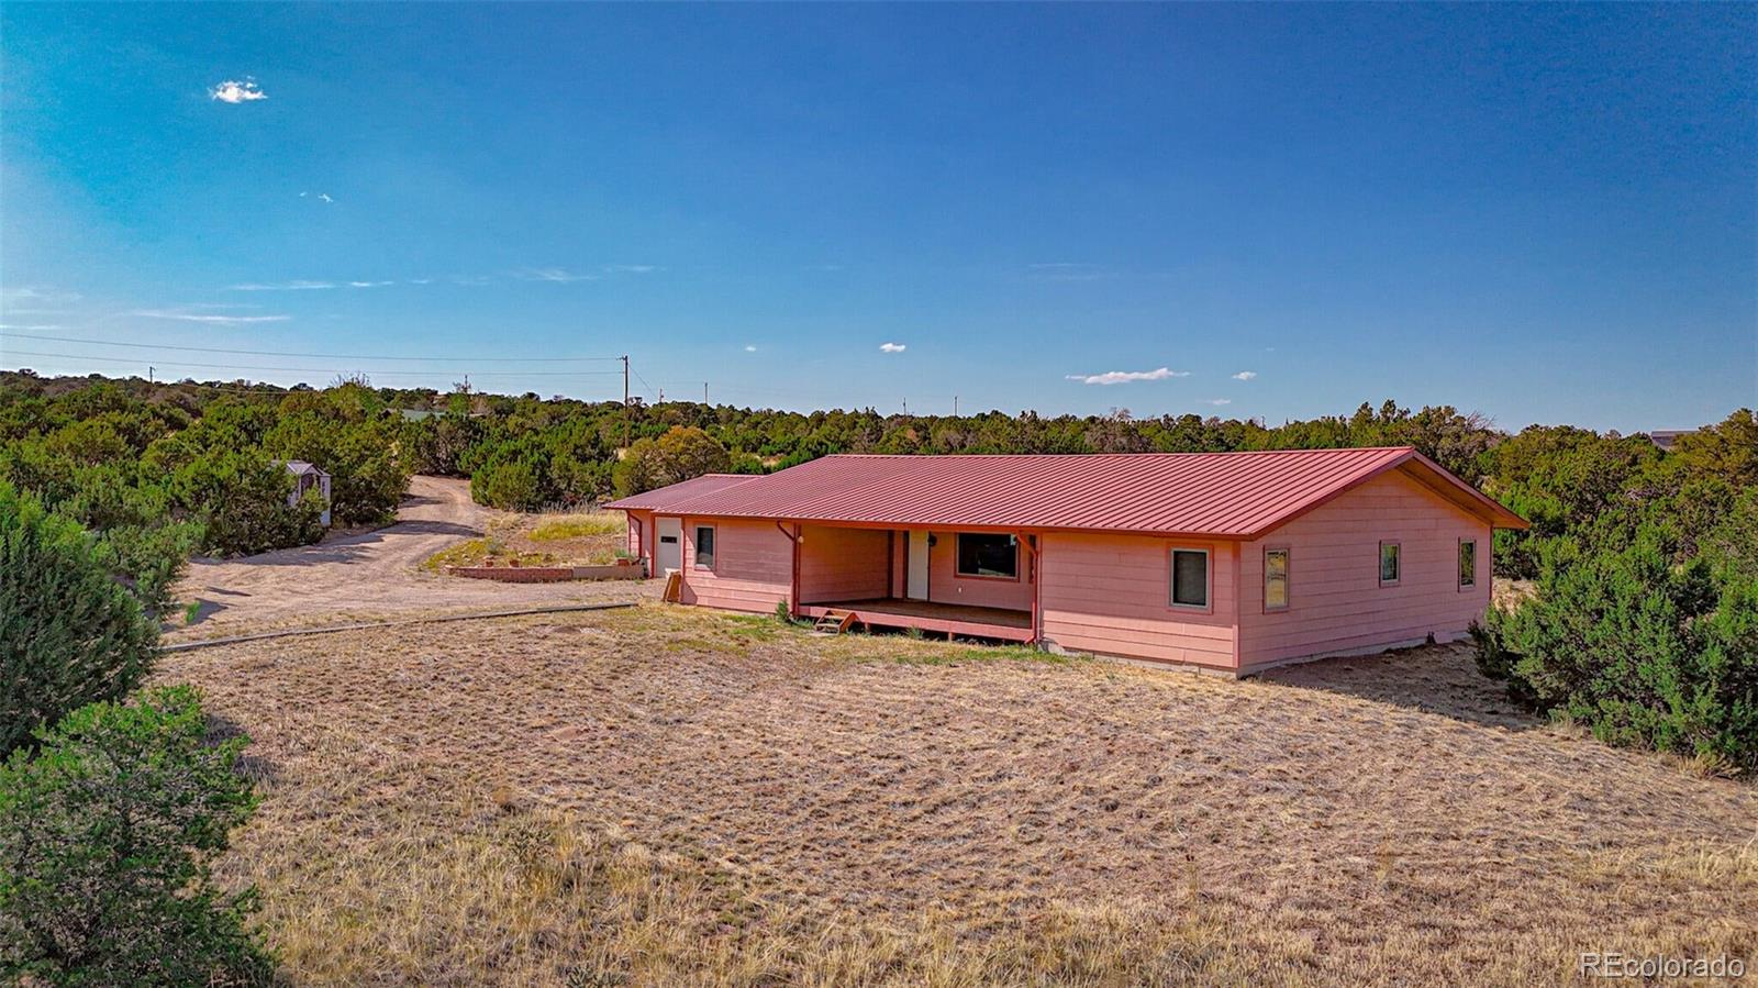
[[[805,524],[795,538],[795,614],[853,614],[867,628],[1037,640],[1037,538],[1011,531]]]

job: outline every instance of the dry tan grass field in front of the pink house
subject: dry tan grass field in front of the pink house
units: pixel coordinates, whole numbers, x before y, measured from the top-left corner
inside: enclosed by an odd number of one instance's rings
[[[1547,984],[1758,962],[1758,789],[1459,647],[1231,682],[645,603],[167,656],[295,984]]]

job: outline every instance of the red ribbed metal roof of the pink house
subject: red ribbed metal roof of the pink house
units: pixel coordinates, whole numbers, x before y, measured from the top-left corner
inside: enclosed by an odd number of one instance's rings
[[[1496,527],[1526,522],[1410,447],[1246,454],[830,455],[665,496],[665,513],[1257,538],[1387,469]]]

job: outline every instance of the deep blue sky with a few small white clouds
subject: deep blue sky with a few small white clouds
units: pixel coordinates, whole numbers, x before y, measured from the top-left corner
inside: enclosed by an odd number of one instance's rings
[[[0,26],[5,367],[610,397],[571,359],[629,353],[649,399],[1510,429],[1758,401],[1754,5]]]

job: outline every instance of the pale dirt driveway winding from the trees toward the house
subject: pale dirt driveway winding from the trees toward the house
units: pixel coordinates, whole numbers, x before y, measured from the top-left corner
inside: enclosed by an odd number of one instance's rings
[[[243,559],[197,559],[179,585],[179,599],[200,605],[197,621],[167,638],[411,610],[633,599],[643,592],[642,584],[621,580],[494,584],[418,570],[434,552],[480,536],[494,515],[469,499],[469,482],[417,476],[394,526]]]

